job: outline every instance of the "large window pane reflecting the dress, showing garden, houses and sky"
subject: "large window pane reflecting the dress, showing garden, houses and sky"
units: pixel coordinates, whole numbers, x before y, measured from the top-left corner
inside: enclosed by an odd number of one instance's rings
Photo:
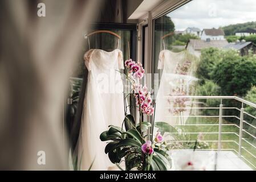
[[[237,99],[256,101],[255,17],[254,0],[193,0],[155,19],[155,122],[174,127],[174,149],[200,138],[197,150],[231,151],[255,168],[256,109]]]

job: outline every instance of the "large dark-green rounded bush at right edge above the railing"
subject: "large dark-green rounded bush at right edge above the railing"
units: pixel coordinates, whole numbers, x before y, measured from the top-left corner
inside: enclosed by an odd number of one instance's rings
[[[224,96],[245,96],[256,84],[255,56],[240,56],[236,51],[222,53],[222,61],[216,65],[212,78],[221,86]]]

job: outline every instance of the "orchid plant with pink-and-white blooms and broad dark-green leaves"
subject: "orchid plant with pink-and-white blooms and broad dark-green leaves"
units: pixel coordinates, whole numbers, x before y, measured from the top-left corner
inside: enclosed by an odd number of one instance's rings
[[[125,61],[125,68],[125,78],[132,85],[132,92],[124,93],[124,98],[131,96],[131,100],[136,101],[135,107],[139,113],[139,121],[136,122],[133,115],[127,113],[128,106],[124,99],[123,125],[109,126],[109,129],[100,135],[101,141],[108,141],[105,154],[108,154],[109,160],[119,167],[119,164],[124,161],[127,171],[166,171],[171,167],[171,160],[161,128],[168,124],[143,122],[143,115],[153,116],[154,114],[151,93],[147,86],[140,84],[144,69],[141,63],[131,59]],[[160,129],[156,134],[153,133],[155,127]]]

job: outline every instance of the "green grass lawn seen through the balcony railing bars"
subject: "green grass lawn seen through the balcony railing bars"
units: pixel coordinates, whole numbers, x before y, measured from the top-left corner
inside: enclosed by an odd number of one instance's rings
[[[222,123],[224,124],[233,124],[228,121],[223,120]],[[217,133],[217,134],[202,134],[203,139],[202,140],[218,140],[218,125],[217,126],[198,126],[200,124],[218,124],[218,118],[189,118],[186,121],[186,124],[197,124],[197,126],[178,126],[178,128],[184,130],[186,133]],[[222,126],[222,132],[231,132],[231,134],[222,134],[221,140],[227,140],[227,142],[221,143],[222,149],[230,149],[233,150],[235,154],[238,155],[238,144],[239,143],[239,128],[237,126]],[[254,131],[255,132],[255,131]],[[234,133],[234,134],[233,134]],[[237,135],[235,135],[237,134]],[[178,134],[177,134],[178,135]],[[196,140],[198,134],[187,134],[185,137],[185,140]],[[248,142],[253,144],[256,147],[256,140],[251,137],[250,135],[243,132],[243,138],[246,139]],[[235,143],[235,142],[237,143]],[[218,142],[208,142],[210,149],[217,149],[218,148]],[[186,145],[184,145],[186,147]],[[189,146],[187,146],[189,147]],[[254,166],[256,166],[256,148],[251,146],[250,144],[246,143],[244,140],[242,141],[242,147],[245,149],[242,149],[242,156],[249,160],[250,163],[252,163]],[[185,148],[184,148],[185,149]],[[235,151],[237,152],[235,152]],[[254,156],[253,156],[254,155]],[[251,168],[255,169],[249,162],[247,162],[245,159],[243,159]]]

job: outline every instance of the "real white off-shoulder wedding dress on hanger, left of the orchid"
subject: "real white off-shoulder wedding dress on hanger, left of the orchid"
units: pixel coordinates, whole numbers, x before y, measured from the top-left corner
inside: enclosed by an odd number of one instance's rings
[[[84,55],[89,71],[82,125],[79,135],[78,168],[108,170],[112,164],[105,154],[107,142],[100,134],[109,125],[121,126],[124,120],[124,96],[121,74],[124,69],[123,53],[119,49],[106,52],[91,49]],[[79,167],[80,166],[80,167]]]

